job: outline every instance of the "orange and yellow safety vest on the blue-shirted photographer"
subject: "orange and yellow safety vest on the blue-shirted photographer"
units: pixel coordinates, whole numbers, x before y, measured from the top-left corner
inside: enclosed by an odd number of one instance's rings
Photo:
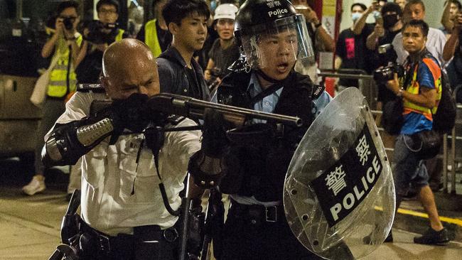
[[[433,109],[429,109],[427,107],[421,107],[417,104],[409,102],[409,100],[407,99],[404,99],[404,114],[415,112],[423,114],[424,117],[426,117],[426,119],[433,121],[432,114],[436,113],[436,109],[438,109],[439,100],[441,99],[441,70],[439,66],[434,62],[434,60],[431,60],[431,58],[424,58],[422,61],[429,67],[429,70],[431,71],[434,77],[434,84],[436,88],[436,106]],[[411,85],[409,85],[406,89],[407,92],[412,94],[419,94],[420,86],[419,82],[417,82],[417,70],[418,66],[414,68]]]

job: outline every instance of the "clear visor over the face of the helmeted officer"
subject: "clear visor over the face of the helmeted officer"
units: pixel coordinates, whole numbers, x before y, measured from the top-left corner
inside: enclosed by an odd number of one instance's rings
[[[252,26],[241,35],[247,63],[254,68],[291,70],[296,61],[304,63],[314,55],[305,18],[300,14]]]

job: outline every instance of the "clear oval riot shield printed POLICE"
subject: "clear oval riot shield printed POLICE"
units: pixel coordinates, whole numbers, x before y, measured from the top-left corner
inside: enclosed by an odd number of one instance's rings
[[[360,259],[392,227],[390,163],[365,97],[340,92],[306,131],[284,183],[284,210],[294,235],[326,259]]]

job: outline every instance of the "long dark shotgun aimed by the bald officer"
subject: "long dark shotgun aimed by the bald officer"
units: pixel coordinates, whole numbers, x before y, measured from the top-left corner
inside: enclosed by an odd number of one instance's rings
[[[236,115],[245,119],[262,119],[267,121],[276,121],[282,124],[291,126],[301,126],[303,124],[299,117],[289,117],[283,114],[272,114],[259,112],[252,109],[241,107],[232,107],[225,104],[216,104],[213,102],[205,102],[203,100],[194,99],[192,97],[183,97],[177,94],[161,93],[149,100],[149,107],[154,111],[170,112],[173,114],[184,115],[202,119],[205,109],[215,109],[223,112],[223,114]]]

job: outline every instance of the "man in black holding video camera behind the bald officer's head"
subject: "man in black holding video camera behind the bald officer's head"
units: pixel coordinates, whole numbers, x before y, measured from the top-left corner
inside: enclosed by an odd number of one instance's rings
[[[97,83],[102,68],[102,54],[107,46],[127,36],[117,28],[119,4],[115,0],[100,0],[96,5],[99,21],[84,23],[84,42],[77,58],[77,81]]]

